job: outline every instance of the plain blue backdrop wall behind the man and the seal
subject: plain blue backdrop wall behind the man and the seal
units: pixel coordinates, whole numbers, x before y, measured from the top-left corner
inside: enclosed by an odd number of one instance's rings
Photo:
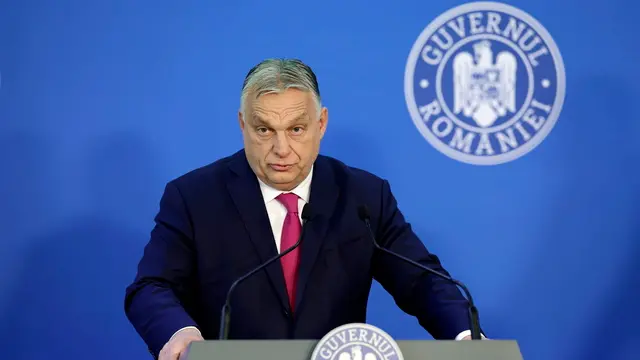
[[[496,166],[456,161],[404,94],[413,43],[462,1],[0,2],[3,358],[145,359],[123,312],[167,181],[242,146],[244,75],[317,72],[322,152],[390,180],[428,248],[525,359],[640,357],[640,43],[631,0],[513,0],[549,31],[566,98]],[[375,286],[369,321],[429,338]]]

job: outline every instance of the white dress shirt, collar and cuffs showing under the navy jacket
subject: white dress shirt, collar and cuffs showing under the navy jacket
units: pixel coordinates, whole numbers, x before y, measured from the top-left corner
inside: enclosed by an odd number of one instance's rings
[[[311,167],[311,171],[309,172],[309,175],[307,175],[307,177],[298,186],[296,186],[293,190],[289,191],[298,195],[298,218],[300,219],[300,221],[302,221],[302,209],[304,208],[304,205],[309,202],[312,178],[313,178],[313,167]],[[278,197],[278,195],[286,191],[274,189],[269,185],[265,184],[264,182],[262,182],[260,179],[258,179],[258,182],[260,183],[260,191],[262,192],[264,204],[267,208],[267,214],[269,215],[269,222],[271,223],[271,230],[273,231],[273,238],[275,239],[276,248],[278,249],[278,253],[279,253],[281,251],[280,238],[282,236],[282,227],[284,225],[284,218],[287,216],[287,209],[276,198]],[[176,334],[178,334],[180,331],[186,330],[186,329],[195,329],[199,332],[199,330],[196,327],[187,326],[185,328],[182,328],[176,331],[175,334],[173,334],[173,336],[171,337],[171,339],[173,339],[173,337],[176,336]],[[458,336],[456,336],[456,340],[461,340],[467,335],[471,335],[470,330],[466,330],[458,334]],[[169,341],[171,341],[171,339],[169,339]]]

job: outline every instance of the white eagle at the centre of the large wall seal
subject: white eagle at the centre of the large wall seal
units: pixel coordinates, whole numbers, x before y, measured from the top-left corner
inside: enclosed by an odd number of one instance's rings
[[[453,59],[453,112],[472,118],[486,128],[507,112],[516,111],[515,56],[502,51],[493,63],[491,42],[473,45],[475,57],[461,52]]]

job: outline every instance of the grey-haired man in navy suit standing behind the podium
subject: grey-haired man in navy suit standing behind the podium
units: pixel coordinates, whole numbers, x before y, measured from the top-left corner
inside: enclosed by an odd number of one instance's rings
[[[152,354],[178,359],[190,342],[216,339],[232,282],[297,241],[307,203],[301,245],[236,288],[231,339],[320,339],[365,322],[373,279],[434,338],[469,338],[457,287],[374,251],[361,205],[380,245],[446,273],[386,180],[319,155],[328,111],[313,71],[266,60],[247,74],[240,104],[244,149],[167,184],[126,289],[126,314]]]

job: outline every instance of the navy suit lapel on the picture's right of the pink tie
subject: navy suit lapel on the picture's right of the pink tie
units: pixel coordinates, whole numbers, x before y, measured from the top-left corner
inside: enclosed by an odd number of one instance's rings
[[[328,161],[319,156],[314,164],[309,203],[313,206],[314,217],[305,227],[302,239],[298,285],[296,287],[295,309],[298,311],[311,270],[315,265],[324,237],[329,229],[334,213],[339,188],[335,182],[333,169]]]

